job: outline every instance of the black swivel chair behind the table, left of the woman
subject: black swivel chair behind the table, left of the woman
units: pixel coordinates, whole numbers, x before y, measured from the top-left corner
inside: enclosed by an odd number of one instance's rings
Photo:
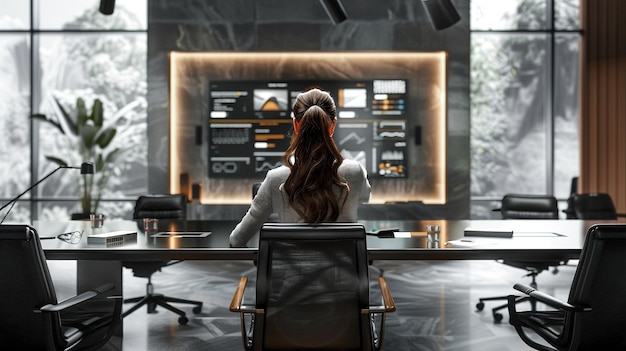
[[[187,218],[187,197],[182,194],[175,195],[143,195],[140,196],[135,203],[135,210],[133,212],[133,218],[138,220],[139,226],[143,229],[143,218],[158,218],[158,219],[171,219],[181,220],[184,227],[184,221]],[[162,294],[155,294],[154,287],[152,285],[152,274],[161,271],[161,268],[176,264],[180,261],[129,261],[124,262],[124,266],[133,270],[133,275],[136,277],[148,278],[146,285],[146,294],[144,296],[133,297],[124,299],[124,303],[134,303],[135,305],[126,310],[122,317],[133,313],[141,306],[146,305],[148,313],[156,313],[156,307],[161,306],[166,308],[180,317],[178,323],[187,324],[189,319],[186,313],[170,303],[183,303],[191,304],[195,307],[192,309],[193,313],[200,313],[202,311],[201,301],[192,301],[179,299],[176,297],[164,296]]]

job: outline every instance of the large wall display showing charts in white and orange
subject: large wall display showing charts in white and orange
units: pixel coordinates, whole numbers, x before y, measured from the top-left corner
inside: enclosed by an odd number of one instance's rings
[[[407,176],[407,81],[402,79],[209,82],[209,176],[259,178],[282,164],[296,96],[311,87],[337,105],[334,140],[370,177]]]

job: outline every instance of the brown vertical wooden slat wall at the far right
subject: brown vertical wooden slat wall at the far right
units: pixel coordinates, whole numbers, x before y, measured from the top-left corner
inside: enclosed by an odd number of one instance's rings
[[[626,213],[626,2],[581,0],[581,192]]]

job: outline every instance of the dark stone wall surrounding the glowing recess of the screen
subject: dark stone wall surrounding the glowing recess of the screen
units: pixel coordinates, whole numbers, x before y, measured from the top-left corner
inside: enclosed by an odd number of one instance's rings
[[[149,2],[149,191],[168,191],[169,51],[448,52],[447,218],[469,216],[469,0],[462,20],[434,31],[420,1],[343,0],[349,20],[334,26],[317,1],[161,0]],[[189,101],[206,113],[206,97]],[[203,112],[204,111],[204,112]],[[191,135],[194,130],[190,130]],[[423,136],[427,137],[426,135]],[[194,152],[190,150],[190,152]],[[201,152],[201,151],[200,151]],[[197,183],[197,180],[191,180]]]

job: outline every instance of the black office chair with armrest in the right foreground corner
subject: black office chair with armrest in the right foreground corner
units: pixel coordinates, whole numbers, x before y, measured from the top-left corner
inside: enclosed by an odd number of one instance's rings
[[[626,225],[594,225],[587,232],[567,302],[516,284],[516,290],[549,308],[517,311],[518,297],[509,297],[510,323],[522,340],[544,351],[626,350],[625,252]]]

